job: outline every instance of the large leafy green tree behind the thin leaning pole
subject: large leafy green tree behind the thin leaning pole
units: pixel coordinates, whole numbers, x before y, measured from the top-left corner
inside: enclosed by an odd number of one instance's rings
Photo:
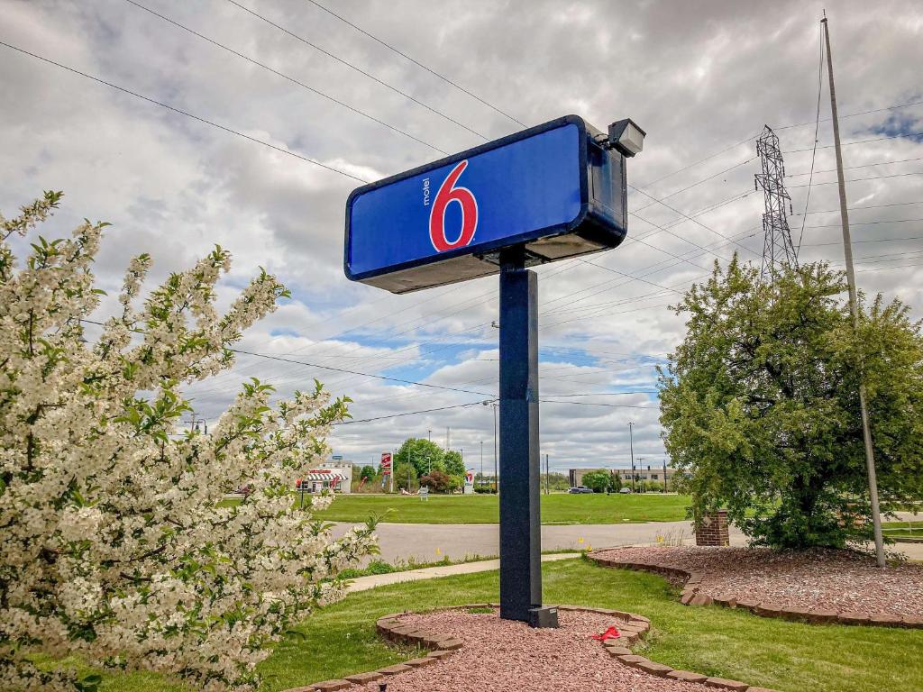
[[[860,305],[824,263],[773,283],[741,266],[693,286],[687,334],[660,373],[661,423],[692,513],[725,505],[753,543],[867,539],[869,488],[858,406],[869,393],[882,507],[923,496],[923,337],[908,308]]]

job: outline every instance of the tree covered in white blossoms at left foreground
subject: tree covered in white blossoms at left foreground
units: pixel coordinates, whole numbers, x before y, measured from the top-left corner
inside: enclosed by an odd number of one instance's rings
[[[230,257],[217,248],[136,306],[150,267],[137,257],[121,314],[88,343],[106,224],[40,237],[21,266],[10,243],[60,197],[0,218],[0,689],[93,688],[96,675],[42,663],[73,653],[199,689],[253,688],[268,644],[374,551],[374,526],[333,540],[289,492],[329,452],[347,400],[315,383],[273,406],[254,380],[210,434],[181,433],[183,384],[228,368],[229,344],[285,289],[263,272],[219,315]],[[222,506],[242,483],[253,492]]]

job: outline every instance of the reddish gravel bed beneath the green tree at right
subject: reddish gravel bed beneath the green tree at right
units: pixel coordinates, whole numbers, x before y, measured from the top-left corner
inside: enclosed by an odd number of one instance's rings
[[[708,594],[839,613],[923,615],[923,566],[880,569],[852,551],[664,546],[594,555],[697,572]]]

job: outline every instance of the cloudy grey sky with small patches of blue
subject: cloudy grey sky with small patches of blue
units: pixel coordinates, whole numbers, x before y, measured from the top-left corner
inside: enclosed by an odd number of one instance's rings
[[[559,401],[543,404],[542,452],[553,470],[625,466],[633,422],[635,456],[659,465],[654,368],[683,332],[668,305],[716,258],[760,261],[764,124],[786,152],[799,257],[842,262],[826,78],[809,175],[822,6],[849,115],[858,281],[917,306],[923,7],[909,1],[0,0],[0,42],[59,64],[0,46],[0,209],[54,188],[65,204],[46,235],[113,222],[97,274],[114,294],[133,255],[149,252],[162,280],[215,244],[234,254],[222,304],[258,267],[292,289],[240,344],[286,361],[242,355],[189,388],[199,416],[215,419],[245,377],[282,393],[318,377],[354,400],[357,423],[331,439],[348,459],[430,432],[444,444],[450,428],[475,468],[483,441],[491,468],[493,412],[478,402],[497,391],[497,278],[403,296],[351,283],[345,199],[354,178],[523,125],[630,116],[648,137],[629,184],[673,209],[632,192],[629,240],[593,258],[601,267],[538,269],[541,392]]]

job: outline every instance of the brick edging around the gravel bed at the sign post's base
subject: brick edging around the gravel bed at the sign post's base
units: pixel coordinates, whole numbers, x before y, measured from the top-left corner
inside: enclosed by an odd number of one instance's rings
[[[497,608],[497,603],[469,603],[467,605],[458,605],[450,608],[440,608],[438,610],[469,610],[473,608]],[[598,613],[615,617],[617,620],[624,622],[617,625],[619,638],[610,639],[603,642],[606,653],[618,662],[628,665],[631,668],[637,668],[645,673],[658,675],[660,677],[682,680],[689,683],[700,683],[706,687],[715,689],[735,690],[736,692],[774,692],[766,687],[756,687],[741,683],[737,680],[726,680],[723,677],[709,677],[689,671],[677,671],[668,665],[657,663],[646,659],[643,656],[636,655],[629,649],[630,646],[637,644],[651,629],[651,621],[643,615],[626,613],[624,611],[612,610],[610,608],[588,608],[581,605],[558,605],[559,611],[573,611],[581,613]],[[425,611],[435,612],[435,611]],[[303,687],[293,687],[284,690],[284,692],[333,692],[334,690],[347,689],[353,685],[365,685],[366,683],[381,680],[390,675],[404,673],[425,665],[433,665],[449,656],[453,651],[462,649],[464,642],[453,638],[448,634],[438,634],[428,630],[420,630],[414,626],[402,625],[400,617],[407,613],[395,613],[379,617],[375,623],[378,634],[395,643],[415,644],[429,652],[426,656],[412,659],[396,665],[390,665],[387,668],[379,668],[377,671],[370,673],[359,673],[346,675],[342,680],[325,680],[324,682],[314,683],[313,685]]]

